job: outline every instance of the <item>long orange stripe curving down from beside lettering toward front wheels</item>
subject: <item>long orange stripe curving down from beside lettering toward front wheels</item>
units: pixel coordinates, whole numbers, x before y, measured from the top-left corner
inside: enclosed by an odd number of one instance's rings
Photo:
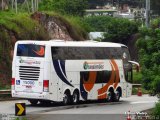
[[[110,64],[111,64],[111,63],[110,63]],[[111,77],[110,77],[108,83],[106,83],[102,88],[100,88],[100,89],[98,90],[98,95],[107,92],[108,87],[114,83],[115,71],[114,71],[114,69],[113,69],[113,65],[112,65],[112,64],[111,64],[111,67],[112,67]]]

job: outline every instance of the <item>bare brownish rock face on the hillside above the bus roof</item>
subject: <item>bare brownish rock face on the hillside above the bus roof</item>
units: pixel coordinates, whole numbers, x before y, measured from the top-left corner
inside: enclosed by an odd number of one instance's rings
[[[62,39],[66,41],[81,41],[84,40],[73,30],[73,27],[68,21],[59,16],[49,16],[48,14],[36,12],[32,14],[32,19],[37,20],[47,30],[50,39]]]

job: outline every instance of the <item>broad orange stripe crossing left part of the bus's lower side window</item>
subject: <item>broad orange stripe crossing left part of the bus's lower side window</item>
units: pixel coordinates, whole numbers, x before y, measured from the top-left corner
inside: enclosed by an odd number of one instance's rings
[[[93,88],[95,82],[96,82],[96,76],[97,72],[96,71],[91,71],[89,72],[89,79],[87,81],[83,80],[83,85],[84,88],[89,92]]]

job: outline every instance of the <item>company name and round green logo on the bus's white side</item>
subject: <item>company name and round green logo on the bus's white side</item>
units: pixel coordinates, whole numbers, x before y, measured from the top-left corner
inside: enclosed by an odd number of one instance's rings
[[[85,70],[88,69],[104,69],[104,63],[103,62],[87,62],[85,61],[83,64],[83,68]]]

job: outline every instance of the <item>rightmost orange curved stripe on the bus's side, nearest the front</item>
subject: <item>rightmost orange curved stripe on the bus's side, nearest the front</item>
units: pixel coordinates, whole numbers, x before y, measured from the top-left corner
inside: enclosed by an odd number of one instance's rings
[[[112,64],[114,65],[115,68],[115,72],[116,72],[116,80],[115,80],[115,84],[114,84],[114,88],[117,87],[118,83],[119,83],[119,69],[118,69],[118,65],[114,60],[111,60]]]

